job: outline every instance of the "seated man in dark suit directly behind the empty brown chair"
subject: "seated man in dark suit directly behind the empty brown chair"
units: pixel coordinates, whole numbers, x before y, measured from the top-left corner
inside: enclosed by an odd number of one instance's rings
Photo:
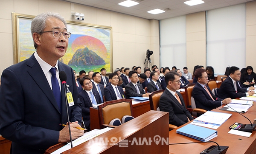
[[[105,88],[105,100],[112,101],[125,98],[122,87],[117,86],[119,82],[119,76],[116,73],[111,73],[108,77],[111,85]]]

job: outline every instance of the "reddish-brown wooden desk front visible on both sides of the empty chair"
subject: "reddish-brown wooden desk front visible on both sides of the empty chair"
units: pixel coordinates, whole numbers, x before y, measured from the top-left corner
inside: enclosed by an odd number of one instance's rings
[[[133,107],[133,112],[134,112],[134,118],[136,118],[150,110],[149,101],[133,104],[132,107]],[[98,109],[91,107],[90,108],[90,128],[91,128],[91,130],[101,129],[99,125],[100,124],[99,124]]]

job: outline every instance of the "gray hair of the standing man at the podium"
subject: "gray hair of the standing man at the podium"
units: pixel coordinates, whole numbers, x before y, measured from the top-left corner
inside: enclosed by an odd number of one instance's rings
[[[61,17],[60,14],[58,13],[54,13],[54,12],[47,12],[47,13],[42,13],[42,14],[38,14],[31,22],[31,34],[33,35],[33,33],[38,33],[38,34],[42,34],[43,31],[44,31],[44,28],[45,28],[45,24],[46,24],[46,20],[48,18],[56,18],[58,20],[61,20],[65,27],[67,28],[67,23],[64,19],[64,17]],[[37,48],[37,44],[35,43],[34,39],[33,39],[33,42],[34,42],[34,47],[35,49]]]

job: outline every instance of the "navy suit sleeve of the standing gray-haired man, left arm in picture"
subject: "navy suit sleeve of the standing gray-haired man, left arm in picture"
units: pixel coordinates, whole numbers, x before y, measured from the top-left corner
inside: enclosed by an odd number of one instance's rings
[[[0,134],[8,140],[34,148],[46,149],[57,144],[59,131],[32,126],[23,122],[26,120],[26,116],[30,114],[25,113],[25,111],[26,102],[31,101],[29,100],[31,97],[24,97],[26,92],[23,91],[19,79],[12,70],[6,69],[2,73],[2,84],[0,86]],[[39,120],[41,117],[37,118]],[[36,121],[35,123],[38,124]]]

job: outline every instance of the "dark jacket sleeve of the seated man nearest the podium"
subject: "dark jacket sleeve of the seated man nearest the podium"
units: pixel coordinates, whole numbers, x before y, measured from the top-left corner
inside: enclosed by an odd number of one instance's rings
[[[174,114],[172,101],[168,99],[166,96],[162,95],[160,97],[159,109],[160,111],[169,112],[169,124],[173,124],[175,126],[181,126],[185,123]]]

